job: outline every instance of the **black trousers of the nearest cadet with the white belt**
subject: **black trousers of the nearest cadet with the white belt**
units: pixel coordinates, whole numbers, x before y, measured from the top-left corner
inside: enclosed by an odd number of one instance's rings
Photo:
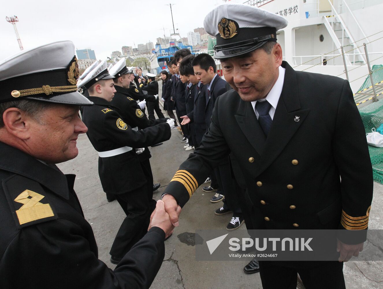
[[[153,177],[149,159],[142,161],[141,167],[147,182],[144,186],[124,194],[115,194],[124,210],[124,218],[118,229],[110,255],[122,258],[147,232],[150,216],[155,209],[153,200]]]

